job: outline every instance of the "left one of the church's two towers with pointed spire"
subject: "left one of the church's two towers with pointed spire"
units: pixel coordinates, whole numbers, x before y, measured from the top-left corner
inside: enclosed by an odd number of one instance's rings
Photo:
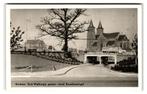
[[[92,20],[90,21],[88,30],[87,30],[87,50],[91,51],[92,43],[95,39],[95,27],[93,25]]]

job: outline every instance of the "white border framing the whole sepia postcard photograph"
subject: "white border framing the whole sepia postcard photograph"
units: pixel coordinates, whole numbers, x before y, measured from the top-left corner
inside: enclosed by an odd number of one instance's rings
[[[138,73],[138,83],[139,87],[127,87],[127,88],[117,88],[120,90],[137,90],[140,91],[142,90],[142,6],[141,5],[6,5],[6,87],[7,89],[24,89],[24,88],[11,88],[11,58],[10,58],[10,9],[47,9],[47,8],[137,8],[138,9],[138,60],[139,60],[139,73]],[[26,88],[25,88],[26,89]],[[28,90],[30,89],[35,89],[35,88],[27,88]],[[37,87],[36,89],[48,89],[48,88],[40,88]],[[98,89],[98,88],[96,88]],[[99,91],[105,91],[105,87],[100,87]],[[116,88],[110,87],[107,88],[107,90],[115,90]],[[107,92],[107,91],[105,91]],[[109,93],[109,92],[108,92]]]

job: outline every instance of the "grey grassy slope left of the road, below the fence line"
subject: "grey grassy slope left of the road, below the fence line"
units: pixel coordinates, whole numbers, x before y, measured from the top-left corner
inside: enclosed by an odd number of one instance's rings
[[[32,70],[31,70],[31,67]],[[58,70],[70,64],[58,63],[51,60],[42,59],[36,56],[11,54],[11,71],[12,72],[40,72]]]

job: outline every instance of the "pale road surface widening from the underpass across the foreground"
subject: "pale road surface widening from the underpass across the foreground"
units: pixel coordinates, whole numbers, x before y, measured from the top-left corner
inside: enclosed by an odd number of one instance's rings
[[[83,64],[57,71],[12,73],[12,87],[137,87],[136,73],[112,71],[103,65]]]

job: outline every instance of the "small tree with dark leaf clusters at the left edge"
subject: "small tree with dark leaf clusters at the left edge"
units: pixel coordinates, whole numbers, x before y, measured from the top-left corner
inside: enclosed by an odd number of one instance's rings
[[[10,25],[11,27],[11,25]],[[11,42],[11,51],[14,51],[18,48],[21,48],[21,42],[23,41],[22,39],[22,35],[24,34],[24,31],[22,32],[20,30],[20,26],[18,26],[17,28],[13,27],[11,29],[11,33],[10,33],[10,42]]]

